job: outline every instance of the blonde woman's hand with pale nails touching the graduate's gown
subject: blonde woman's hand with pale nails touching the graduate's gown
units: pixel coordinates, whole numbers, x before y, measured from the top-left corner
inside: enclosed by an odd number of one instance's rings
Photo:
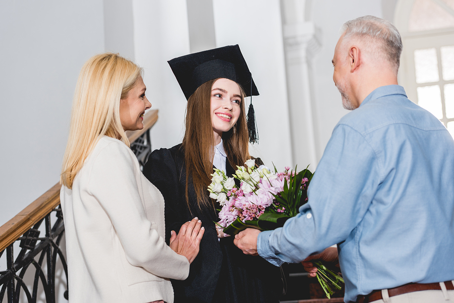
[[[189,263],[192,263],[199,253],[200,240],[205,232],[205,228],[201,226],[202,221],[195,217],[183,224],[178,234],[172,230],[170,248],[177,254],[185,256]]]

